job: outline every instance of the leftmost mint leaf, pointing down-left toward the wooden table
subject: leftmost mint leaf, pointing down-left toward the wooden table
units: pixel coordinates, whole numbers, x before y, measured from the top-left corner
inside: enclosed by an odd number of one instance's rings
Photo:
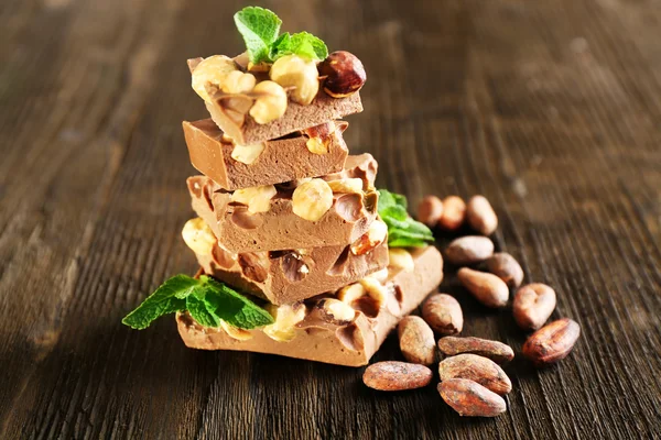
[[[175,275],[151,294],[138,308],[121,320],[122,323],[142,330],[163,315],[186,309],[186,298],[199,282],[186,275]]]

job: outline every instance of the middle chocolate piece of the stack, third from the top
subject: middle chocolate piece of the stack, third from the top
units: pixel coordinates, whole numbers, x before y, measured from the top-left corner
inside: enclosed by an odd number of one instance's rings
[[[361,168],[373,168],[376,161],[362,154],[359,161],[351,160],[351,165],[354,172],[347,173],[362,173]],[[293,212],[293,191],[286,186],[277,187],[267,212],[250,213],[208,177],[188,177],[187,184],[193,209],[212,228],[219,245],[231,253],[346,245],[365,234],[377,217],[373,182],[367,182],[365,193],[334,193],[333,205],[317,221]]]

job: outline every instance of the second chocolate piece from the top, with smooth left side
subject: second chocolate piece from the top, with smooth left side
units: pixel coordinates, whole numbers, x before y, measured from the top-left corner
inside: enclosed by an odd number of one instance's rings
[[[325,134],[319,134],[318,139],[296,133],[267,141],[252,162],[232,158],[236,145],[223,135],[223,131],[210,119],[184,121],[183,127],[193,166],[227,190],[338,173],[348,154],[342,138],[346,122],[328,122],[314,128],[316,133]],[[306,145],[307,142],[317,141],[325,147],[324,154],[315,154]]]

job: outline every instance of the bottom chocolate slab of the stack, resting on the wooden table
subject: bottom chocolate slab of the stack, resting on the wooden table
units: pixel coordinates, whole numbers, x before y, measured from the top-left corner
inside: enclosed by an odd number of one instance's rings
[[[355,316],[346,319],[343,308],[330,307],[333,301],[337,306],[336,299],[324,297],[306,301],[307,315],[295,324],[295,333],[289,342],[270,338],[267,328],[242,330],[243,340],[235,339],[223,329],[203,328],[188,314],[177,314],[177,328],[184,343],[193,349],[241,350],[338,365],[366,365],[399,320],[441,283],[441,253],[429,246],[412,254],[414,270],[390,274],[386,304],[375,314],[356,309]],[[335,316],[326,314],[326,309]]]

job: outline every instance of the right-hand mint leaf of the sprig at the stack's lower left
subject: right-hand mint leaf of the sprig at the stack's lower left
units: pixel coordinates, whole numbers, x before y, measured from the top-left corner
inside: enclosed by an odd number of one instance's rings
[[[239,329],[254,329],[273,323],[273,317],[250,299],[229,286],[218,283],[206,275],[199,277],[207,289],[205,301],[214,314]]]

